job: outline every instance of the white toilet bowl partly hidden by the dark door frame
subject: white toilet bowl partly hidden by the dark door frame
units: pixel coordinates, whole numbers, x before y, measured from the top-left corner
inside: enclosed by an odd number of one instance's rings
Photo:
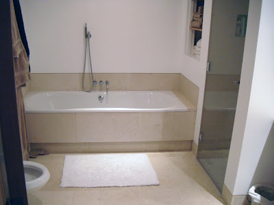
[[[32,193],[45,186],[50,174],[47,167],[33,161],[23,161],[27,193]]]

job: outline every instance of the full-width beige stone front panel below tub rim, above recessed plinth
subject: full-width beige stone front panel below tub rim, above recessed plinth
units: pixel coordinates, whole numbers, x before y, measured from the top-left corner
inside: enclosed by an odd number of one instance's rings
[[[27,113],[32,143],[192,140],[194,111]]]

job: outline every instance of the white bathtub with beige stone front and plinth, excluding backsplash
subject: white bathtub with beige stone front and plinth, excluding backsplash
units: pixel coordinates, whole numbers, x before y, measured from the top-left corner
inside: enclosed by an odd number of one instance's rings
[[[25,108],[29,140],[39,147],[69,143],[73,148],[96,143],[97,152],[105,143],[114,146],[110,151],[117,151],[121,143],[131,143],[127,151],[132,146],[140,151],[190,150],[196,111],[178,93],[28,92]],[[99,100],[100,95],[103,100]]]

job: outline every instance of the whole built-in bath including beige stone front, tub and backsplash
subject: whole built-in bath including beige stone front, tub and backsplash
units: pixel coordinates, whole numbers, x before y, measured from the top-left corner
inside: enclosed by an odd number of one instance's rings
[[[94,76],[110,81],[108,96],[105,85],[83,92],[82,74],[32,74],[25,89],[32,148],[52,153],[191,149],[199,88],[182,74]]]

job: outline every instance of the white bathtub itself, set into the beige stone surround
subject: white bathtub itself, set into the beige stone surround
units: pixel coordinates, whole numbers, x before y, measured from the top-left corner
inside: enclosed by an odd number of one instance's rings
[[[100,102],[99,96],[103,95]],[[27,113],[188,111],[171,91],[28,92]]]

